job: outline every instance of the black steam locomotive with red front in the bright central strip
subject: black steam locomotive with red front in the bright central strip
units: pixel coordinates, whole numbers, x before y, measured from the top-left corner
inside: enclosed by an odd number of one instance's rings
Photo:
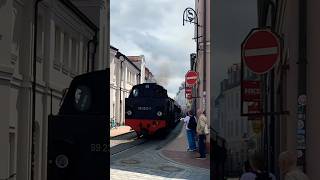
[[[125,125],[141,135],[169,133],[181,117],[180,106],[156,83],[133,86],[125,99]]]

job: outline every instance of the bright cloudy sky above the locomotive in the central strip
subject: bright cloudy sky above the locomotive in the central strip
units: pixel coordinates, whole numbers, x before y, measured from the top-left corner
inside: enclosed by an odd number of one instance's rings
[[[174,97],[195,52],[194,26],[182,25],[193,0],[111,0],[110,44],[126,56],[144,55],[157,82]]]

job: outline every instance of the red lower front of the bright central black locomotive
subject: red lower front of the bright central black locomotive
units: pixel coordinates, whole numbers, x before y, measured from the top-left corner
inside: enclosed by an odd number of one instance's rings
[[[126,119],[125,125],[130,126],[138,134],[142,129],[147,129],[148,134],[152,135],[161,128],[167,126],[166,120],[153,120],[153,119]]]

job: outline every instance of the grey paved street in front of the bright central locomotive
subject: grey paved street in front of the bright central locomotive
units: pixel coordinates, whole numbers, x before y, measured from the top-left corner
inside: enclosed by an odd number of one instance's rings
[[[150,139],[125,151],[110,156],[110,179],[113,180],[147,180],[147,179],[210,179],[210,163],[206,160],[196,160],[193,152],[186,152],[183,123],[163,140]],[[111,142],[114,140],[111,140]],[[180,143],[177,143],[179,141]],[[183,144],[184,143],[184,144]],[[130,142],[123,142],[122,146]],[[172,151],[175,144],[175,151]],[[111,152],[119,146],[111,147]],[[130,147],[130,145],[128,145]],[[174,152],[170,155],[167,152]],[[112,153],[111,153],[112,154]],[[181,158],[181,154],[185,157]],[[180,156],[180,158],[179,158]],[[181,161],[182,160],[182,161]],[[194,161],[191,166],[188,161]],[[205,167],[205,168],[204,168]]]

